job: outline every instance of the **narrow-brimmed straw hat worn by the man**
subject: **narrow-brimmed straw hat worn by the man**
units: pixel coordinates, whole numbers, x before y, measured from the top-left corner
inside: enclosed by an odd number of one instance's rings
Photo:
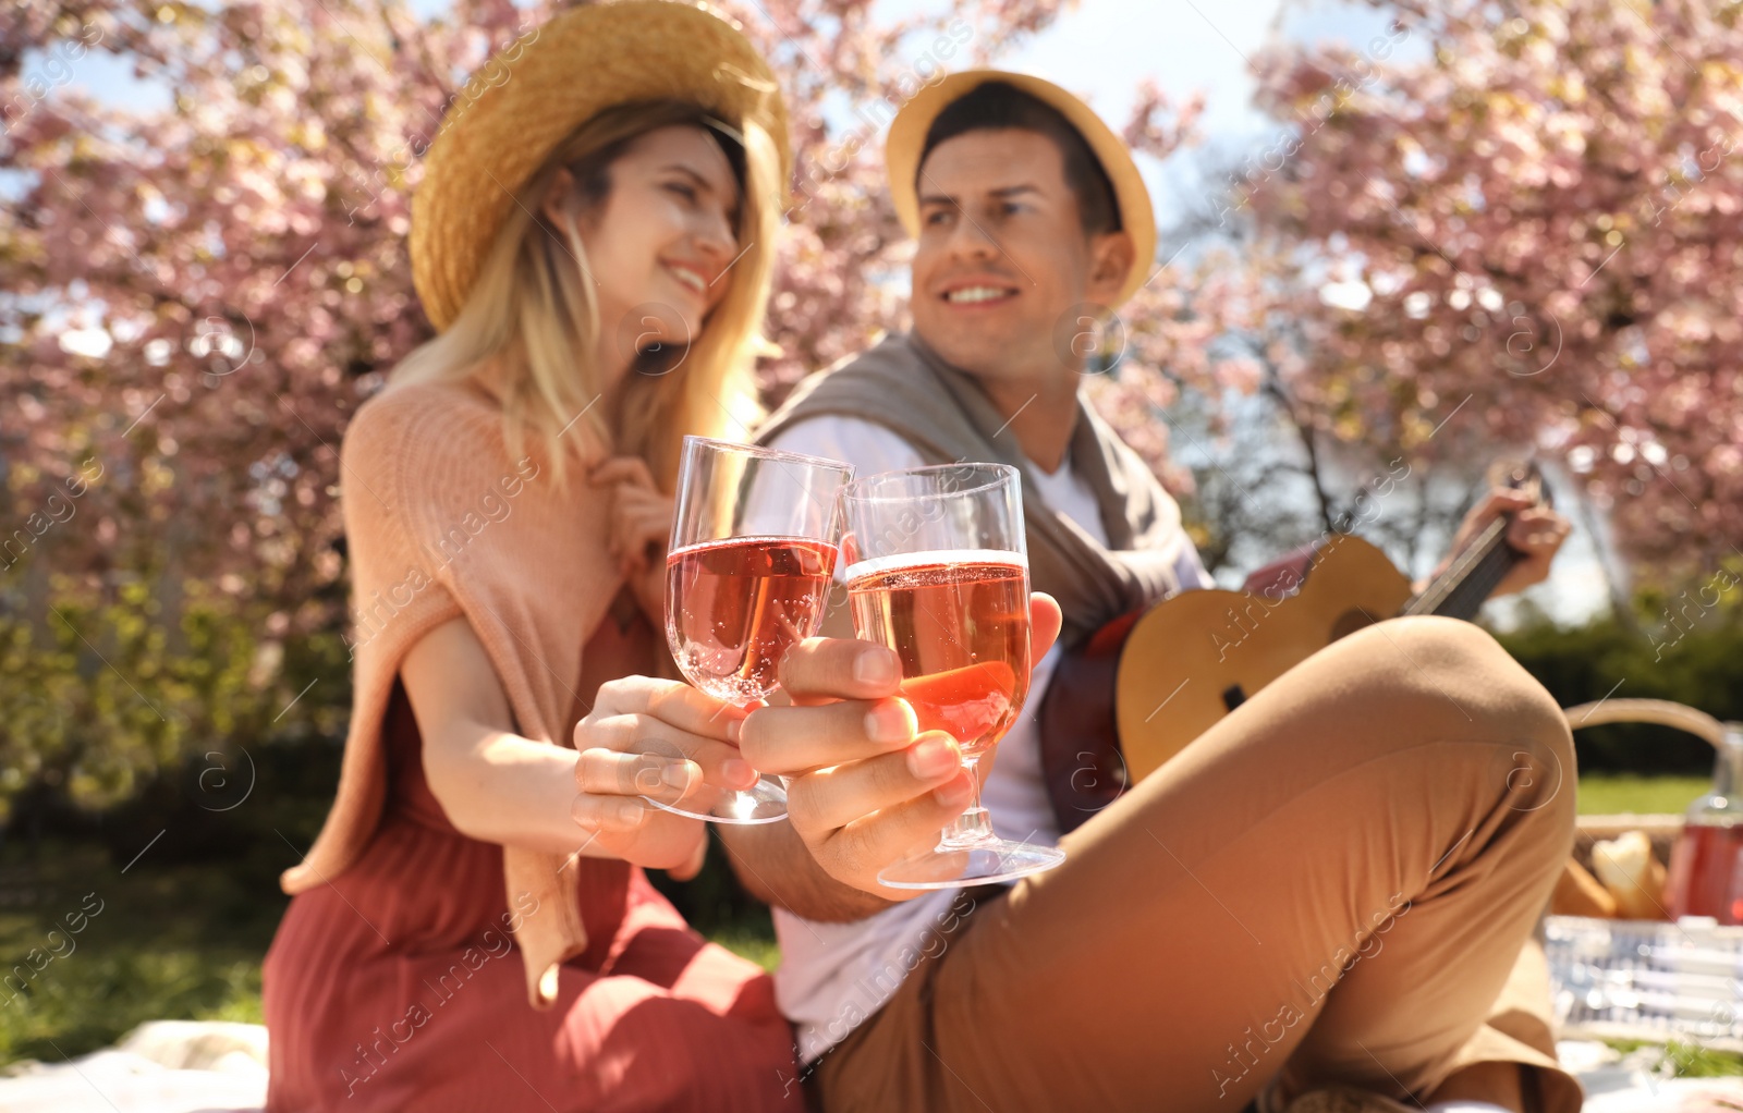
[[[936,85],[927,85],[913,94],[913,99],[901,106],[889,125],[889,139],[884,143],[884,162],[889,165],[889,192],[896,202],[896,216],[901,218],[908,235],[920,233],[920,200],[915,192],[915,178],[920,171],[920,152],[926,148],[926,132],[933,129],[933,120],[945,108],[962,99],[987,82],[1004,82],[1021,89],[1037,101],[1058,110],[1072,127],[1089,143],[1089,150],[1102,160],[1107,179],[1114,183],[1114,204],[1119,207],[1119,223],[1131,235],[1133,253],[1131,273],[1119,291],[1114,305],[1119,308],[1150,277],[1156,261],[1156,214],[1150,209],[1150,190],[1145,188],[1138,174],[1138,164],[1131,160],[1131,152],[1124,141],[1102,122],[1088,105],[1053,82],[1044,82],[1028,73],[1006,73],[1000,70],[964,70],[952,73]]]

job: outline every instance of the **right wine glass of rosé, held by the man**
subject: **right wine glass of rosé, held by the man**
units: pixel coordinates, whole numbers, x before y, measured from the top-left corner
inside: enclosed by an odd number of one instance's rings
[[[980,759],[1028,695],[1028,552],[1016,469],[946,463],[884,472],[842,491],[854,634],[901,658],[920,730],[950,733],[974,794],[938,845],[878,873],[891,888],[955,888],[1051,869],[1065,852],[994,834]]]

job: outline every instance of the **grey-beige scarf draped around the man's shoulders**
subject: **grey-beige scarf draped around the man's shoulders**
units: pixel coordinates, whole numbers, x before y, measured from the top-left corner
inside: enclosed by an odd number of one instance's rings
[[[800,383],[758,428],[758,442],[816,416],[891,428],[927,463],[1009,463],[1023,474],[1023,521],[1035,590],[1060,601],[1065,644],[1180,589],[1175,561],[1185,533],[1180,507],[1149,465],[1077,395],[1068,460],[1095,491],[1109,545],[1048,505],[1035,465],[980,385],[917,336],[889,336],[870,352]]]

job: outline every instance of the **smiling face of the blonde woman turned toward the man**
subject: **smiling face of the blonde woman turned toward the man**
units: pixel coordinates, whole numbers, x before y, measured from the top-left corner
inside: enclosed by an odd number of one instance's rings
[[[694,124],[638,136],[607,176],[605,197],[575,226],[596,282],[600,354],[615,378],[636,352],[701,334],[732,284],[739,186],[720,145]],[[568,200],[568,171],[556,188],[560,204]]]

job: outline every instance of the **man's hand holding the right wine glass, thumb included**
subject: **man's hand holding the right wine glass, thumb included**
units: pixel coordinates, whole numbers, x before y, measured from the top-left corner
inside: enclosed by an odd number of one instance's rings
[[[1032,658],[1060,632],[1060,604],[1030,597]],[[790,707],[760,707],[744,719],[743,756],[765,773],[790,777],[793,831],[837,881],[889,901],[917,890],[878,885],[877,874],[938,840],[973,794],[957,742],[917,735],[913,709],[898,698],[901,664],[891,650],[840,637],[812,637],[781,662]]]

